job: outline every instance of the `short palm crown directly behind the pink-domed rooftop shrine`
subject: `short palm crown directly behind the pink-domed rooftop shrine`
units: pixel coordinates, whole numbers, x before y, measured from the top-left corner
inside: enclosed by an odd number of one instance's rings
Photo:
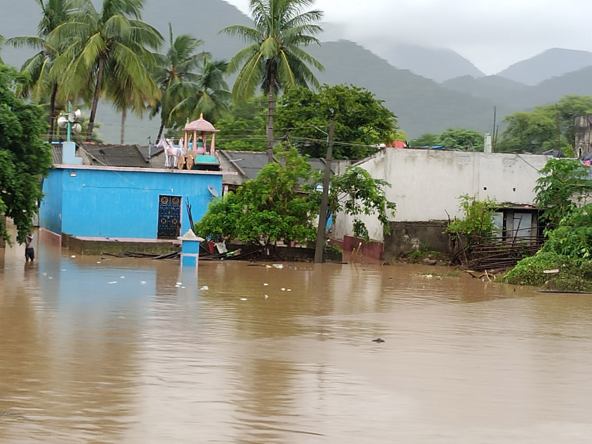
[[[230,91],[224,79],[227,67],[226,60],[211,60],[210,56],[205,56],[197,75],[173,85],[173,94],[185,98],[170,111],[172,120],[184,121],[186,117],[194,119],[203,114],[206,120],[215,123],[230,102]]]

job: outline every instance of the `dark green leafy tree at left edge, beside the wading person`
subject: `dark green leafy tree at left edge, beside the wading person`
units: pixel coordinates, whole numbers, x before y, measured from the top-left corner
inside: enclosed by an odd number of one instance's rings
[[[43,197],[40,179],[52,165],[51,146],[40,136],[47,131],[43,109],[14,94],[17,83],[24,81],[25,75],[0,65],[0,214],[14,221],[19,243],[33,226]],[[4,218],[0,237],[10,241]]]

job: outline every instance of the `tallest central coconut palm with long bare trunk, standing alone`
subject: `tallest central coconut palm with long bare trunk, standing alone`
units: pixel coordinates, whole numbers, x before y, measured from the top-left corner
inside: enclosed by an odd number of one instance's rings
[[[318,9],[306,11],[313,4],[314,0],[250,0],[255,27],[231,25],[220,31],[250,43],[230,60],[228,71],[239,71],[232,89],[235,99],[252,96],[259,88],[268,94],[270,162],[273,159],[276,91],[296,86],[319,86],[308,65],[321,71],[323,65],[302,49],[310,44],[320,44],[316,36],[323,32],[316,24],[323,12]]]

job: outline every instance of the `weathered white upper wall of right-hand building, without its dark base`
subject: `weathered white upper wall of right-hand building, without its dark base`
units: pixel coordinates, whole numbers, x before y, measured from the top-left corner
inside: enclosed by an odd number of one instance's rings
[[[375,179],[390,182],[387,199],[395,221],[446,220],[460,216],[458,197],[476,194],[500,203],[532,205],[538,170],[549,156],[439,150],[385,149],[359,163]],[[375,217],[362,217],[372,240],[382,242]],[[333,237],[352,236],[352,218],[337,215]]]

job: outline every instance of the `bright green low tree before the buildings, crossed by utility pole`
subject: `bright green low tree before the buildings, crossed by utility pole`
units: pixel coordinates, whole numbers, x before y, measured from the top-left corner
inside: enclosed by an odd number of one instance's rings
[[[210,204],[202,220],[195,225],[199,236],[214,241],[239,239],[272,249],[278,240],[313,242],[314,218],[320,210],[322,183],[319,172],[311,173],[305,157],[294,147],[277,147],[279,162],[269,163],[255,180],[247,181],[236,192]],[[366,170],[353,167],[332,179],[328,211],[354,216],[356,236],[368,239],[368,229],[356,216],[377,214],[388,230],[388,217],[395,204],[384,195],[387,182],[372,179]]]

